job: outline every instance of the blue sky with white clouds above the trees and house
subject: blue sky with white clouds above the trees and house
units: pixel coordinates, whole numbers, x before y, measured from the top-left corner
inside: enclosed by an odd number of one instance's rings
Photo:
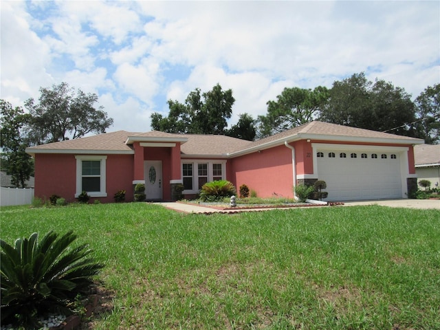
[[[417,97],[440,83],[439,1],[1,1],[0,97],[63,81],[144,132],[166,101],[220,83],[264,115],[285,87],[365,72]]]

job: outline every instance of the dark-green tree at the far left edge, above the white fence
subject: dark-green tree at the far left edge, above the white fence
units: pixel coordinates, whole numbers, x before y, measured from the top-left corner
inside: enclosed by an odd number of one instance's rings
[[[0,111],[1,167],[11,175],[12,185],[25,188],[25,181],[34,172],[32,157],[25,152],[29,144],[24,131],[30,122],[30,115],[24,113],[21,107],[13,108],[5,100],[0,100]]]

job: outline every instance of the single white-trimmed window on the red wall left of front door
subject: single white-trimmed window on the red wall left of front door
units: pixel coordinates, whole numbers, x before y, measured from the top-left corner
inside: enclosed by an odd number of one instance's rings
[[[107,197],[105,168],[107,156],[77,155],[76,194],[85,191],[90,197]]]

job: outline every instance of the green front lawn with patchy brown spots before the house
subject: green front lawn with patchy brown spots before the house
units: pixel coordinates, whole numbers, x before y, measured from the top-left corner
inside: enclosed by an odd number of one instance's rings
[[[1,209],[8,242],[70,229],[114,292],[90,329],[440,329],[438,210]]]

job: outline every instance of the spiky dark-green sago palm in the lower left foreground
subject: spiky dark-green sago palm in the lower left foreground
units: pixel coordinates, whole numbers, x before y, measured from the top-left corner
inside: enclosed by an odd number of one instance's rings
[[[71,311],[103,267],[86,244],[70,248],[75,240],[72,231],[59,238],[48,232],[41,241],[35,232],[13,246],[0,239],[2,325],[34,329],[44,314]]]

